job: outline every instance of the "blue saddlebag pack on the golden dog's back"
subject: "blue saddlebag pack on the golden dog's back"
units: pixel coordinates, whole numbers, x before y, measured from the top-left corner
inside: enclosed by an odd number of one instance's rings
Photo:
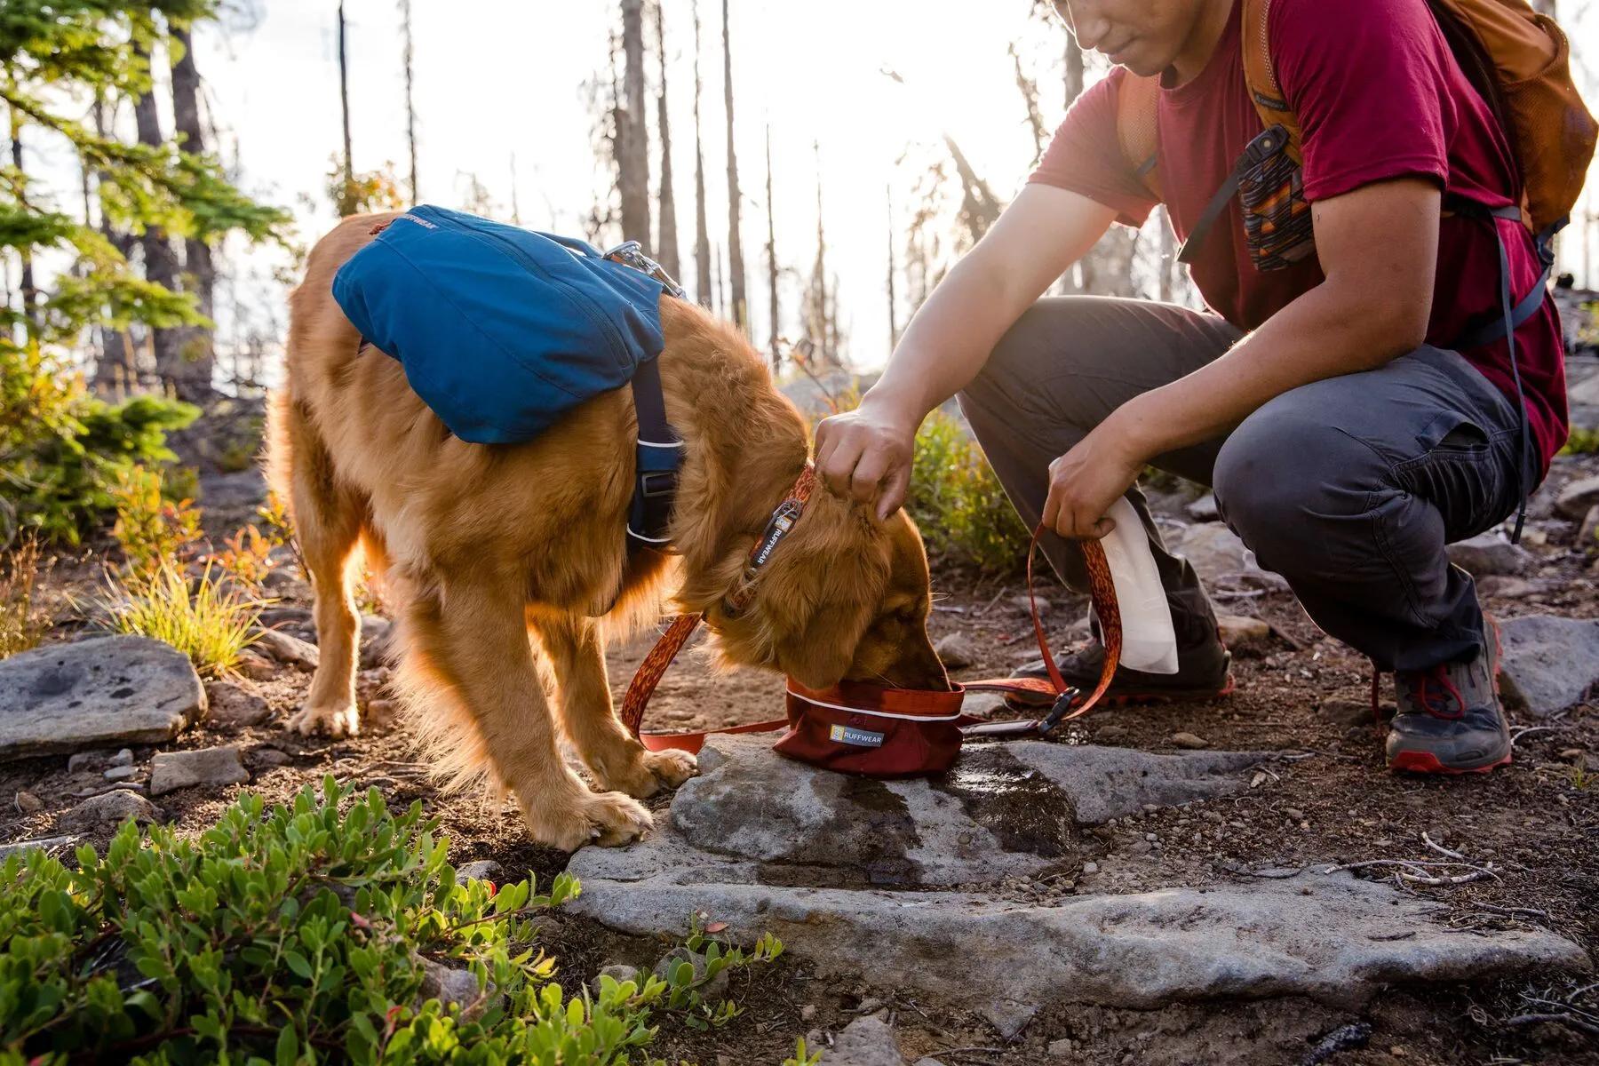
[[[585,241],[446,208],[406,211],[333,278],[361,337],[451,433],[518,444],[660,355],[660,294]]]

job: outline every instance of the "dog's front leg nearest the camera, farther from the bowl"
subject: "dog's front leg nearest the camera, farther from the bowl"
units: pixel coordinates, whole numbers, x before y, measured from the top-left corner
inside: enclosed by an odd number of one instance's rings
[[[521,588],[507,574],[445,579],[408,606],[411,647],[470,713],[536,841],[563,850],[627,844],[651,828],[649,812],[622,793],[590,791],[561,759]]]

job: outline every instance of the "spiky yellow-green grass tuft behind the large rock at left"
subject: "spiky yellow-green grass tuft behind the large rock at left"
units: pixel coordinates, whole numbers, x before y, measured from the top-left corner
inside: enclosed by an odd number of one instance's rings
[[[109,579],[101,614],[117,633],[166,641],[189,655],[195,670],[209,678],[227,674],[238,654],[254,642],[249,630],[261,619],[264,601],[222,580],[213,564],[193,582],[171,559],[155,571]]]

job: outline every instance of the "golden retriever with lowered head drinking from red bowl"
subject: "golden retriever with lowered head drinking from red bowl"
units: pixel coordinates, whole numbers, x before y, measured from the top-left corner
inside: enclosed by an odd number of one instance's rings
[[[736,615],[723,609],[809,451],[804,420],[742,334],[660,300],[667,416],[684,440],[670,521],[678,555],[630,564],[628,388],[524,444],[470,444],[411,392],[398,361],[360,350],[333,276],[393,217],[341,222],[289,297],[269,473],[291,508],[321,644],[291,729],[358,729],[358,548],[395,603],[401,679],[422,697],[411,703],[441,772],[513,791],[532,837],[566,850],[638,837],[651,826],[638,799],[694,775],[694,756],[651,753],[624,729],[606,679],[606,636],[654,622],[668,591],[678,611],[705,612],[724,665],[814,689],[948,687],[927,639],[927,559],[903,511],[878,521],[817,491],[753,601]],[[596,791],[563,761],[561,735]]]

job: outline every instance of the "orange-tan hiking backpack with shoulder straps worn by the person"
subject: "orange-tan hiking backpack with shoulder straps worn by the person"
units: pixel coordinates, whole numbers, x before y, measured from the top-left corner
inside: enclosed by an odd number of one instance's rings
[[[1284,131],[1286,144],[1271,147],[1281,149],[1297,169],[1302,160],[1300,126],[1278,86],[1266,40],[1273,0],[1241,3],[1244,78],[1250,99],[1268,133],[1274,126]],[[1540,237],[1553,233],[1577,203],[1599,134],[1594,117],[1572,82],[1565,34],[1554,19],[1533,11],[1527,0],[1428,0],[1428,8],[1455,53],[1455,61],[1509,137],[1525,189],[1522,222]],[[1116,115],[1122,155],[1154,195],[1159,195],[1159,173],[1154,166],[1158,91],[1158,77],[1129,75],[1121,85]],[[1270,190],[1262,200],[1273,203],[1276,192]],[[1249,213],[1246,203],[1246,221]],[[1303,213],[1308,214],[1308,209]],[[1194,235],[1199,237],[1198,227]],[[1190,238],[1190,245],[1196,241]],[[1297,257],[1303,254],[1306,253]],[[1270,268],[1260,262],[1260,256],[1257,265]]]

